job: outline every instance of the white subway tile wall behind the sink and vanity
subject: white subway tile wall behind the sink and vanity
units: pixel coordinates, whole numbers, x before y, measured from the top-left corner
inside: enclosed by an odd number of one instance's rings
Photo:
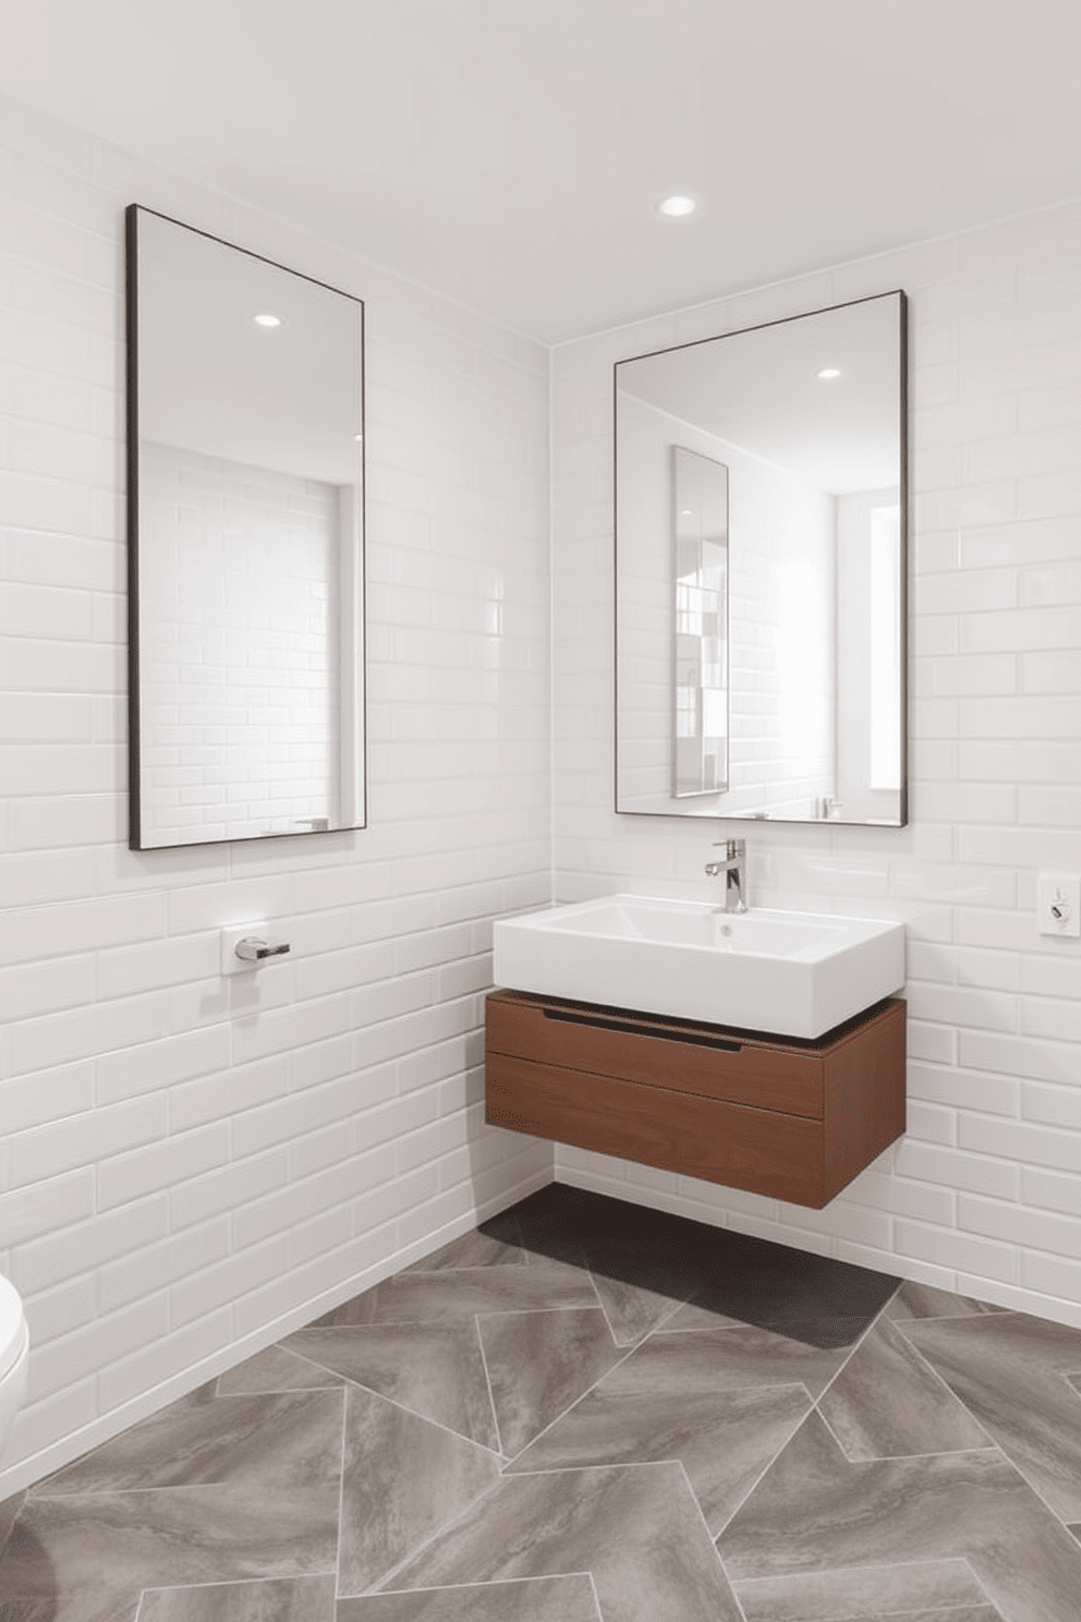
[[[911,826],[746,832],[750,900],[908,921],[909,1132],[825,1212],[561,1147],[556,1174],[1081,1325],[1081,206],[553,354],[556,895],[710,895],[710,832],[611,796],[611,365],[911,297]]]

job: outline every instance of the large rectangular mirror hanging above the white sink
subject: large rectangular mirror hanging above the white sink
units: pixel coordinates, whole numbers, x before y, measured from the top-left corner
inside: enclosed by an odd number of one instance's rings
[[[899,827],[904,294],[614,370],[616,809]]]

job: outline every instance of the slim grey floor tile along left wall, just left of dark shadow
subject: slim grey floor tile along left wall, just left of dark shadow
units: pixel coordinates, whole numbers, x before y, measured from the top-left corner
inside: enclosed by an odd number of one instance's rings
[[[476,1312],[535,1312],[541,1307],[595,1307],[588,1273],[564,1262],[530,1267],[462,1267],[436,1273],[395,1273],[316,1319],[311,1328],[348,1324],[447,1324]]]

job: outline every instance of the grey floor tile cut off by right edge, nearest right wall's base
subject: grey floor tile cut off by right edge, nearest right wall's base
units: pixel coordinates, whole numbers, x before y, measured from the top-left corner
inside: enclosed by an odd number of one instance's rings
[[[1066,1521],[1081,1520],[1081,1330],[1024,1312],[899,1328]]]

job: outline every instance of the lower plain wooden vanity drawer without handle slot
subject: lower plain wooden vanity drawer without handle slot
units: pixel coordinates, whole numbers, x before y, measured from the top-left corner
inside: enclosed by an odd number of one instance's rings
[[[489,1054],[485,1119],[797,1205],[825,1204],[820,1121]]]

